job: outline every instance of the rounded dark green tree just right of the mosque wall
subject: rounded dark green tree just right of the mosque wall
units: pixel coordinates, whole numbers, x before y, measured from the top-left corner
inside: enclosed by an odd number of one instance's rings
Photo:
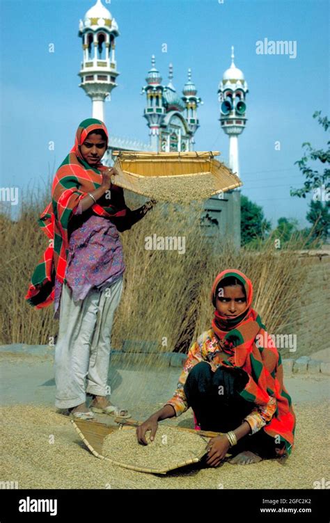
[[[241,195],[241,243],[242,246],[256,239],[264,239],[271,228],[262,207]]]

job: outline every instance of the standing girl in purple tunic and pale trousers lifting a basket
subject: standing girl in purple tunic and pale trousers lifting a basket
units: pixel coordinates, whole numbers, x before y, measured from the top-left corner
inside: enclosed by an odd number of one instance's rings
[[[79,124],[74,146],[58,168],[52,202],[40,217],[49,237],[33,273],[26,299],[34,307],[54,302],[59,317],[55,349],[56,407],[92,419],[92,410],[130,417],[107,400],[113,315],[123,291],[123,247],[118,230],[127,230],[152,209],[127,208],[123,188],[111,183],[116,170],[101,163],[107,151],[104,123]]]

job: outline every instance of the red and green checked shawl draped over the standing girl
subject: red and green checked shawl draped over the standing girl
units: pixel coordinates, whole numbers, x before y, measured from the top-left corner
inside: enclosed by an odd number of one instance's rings
[[[30,305],[37,309],[47,307],[54,300],[55,275],[65,282],[69,236],[68,227],[74,209],[87,193],[94,191],[102,184],[102,170],[107,167],[98,163],[90,166],[80,152],[89,133],[100,130],[107,136],[108,131],[101,120],[88,118],[79,124],[74,146],[61,163],[52,185],[52,202],[40,216],[39,225],[49,238],[49,247],[45,250],[31,279],[31,285],[25,296]],[[93,204],[92,211],[98,216],[125,216],[125,209],[116,209],[113,205],[102,207]]]

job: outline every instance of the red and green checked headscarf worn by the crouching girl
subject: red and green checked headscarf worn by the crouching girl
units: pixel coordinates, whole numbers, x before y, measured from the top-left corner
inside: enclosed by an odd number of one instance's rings
[[[228,269],[219,273],[212,285],[211,299],[215,307],[221,280],[235,277],[246,293],[246,307],[234,319],[226,319],[217,309],[214,311],[212,329],[220,340],[221,348],[228,354],[221,364],[226,367],[240,367],[249,374],[249,381],[239,394],[246,401],[266,405],[269,396],[274,396],[277,407],[272,420],[263,430],[272,437],[279,437],[285,443],[278,455],[292,451],[294,442],[295,415],[292,401],[283,384],[281,354],[269,337],[259,314],[252,309],[253,286],[244,273]],[[258,336],[258,338],[257,338]],[[261,340],[264,342],[262,343]]]

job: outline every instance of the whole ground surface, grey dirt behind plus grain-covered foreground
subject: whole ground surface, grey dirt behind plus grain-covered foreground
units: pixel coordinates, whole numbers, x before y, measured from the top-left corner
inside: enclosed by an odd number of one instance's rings
[[[297,415],[295,448],[288,459],[217,469],[191,465],[155,476],[134,472],[95,458],[74,431],[70,419],[54,405],[52,357],[0,353],[1,449],[0,480],[18,488],[315,488],[328,481],[329,376],[287,376],[285,386]],[[166,403],[180,369],[113,368],[111,401],[146,419]],[[152,391],[152,394],[151,392]],[[98,421],[111,423],[106,415]],[[191,410],[162,424],[192,427]]]

